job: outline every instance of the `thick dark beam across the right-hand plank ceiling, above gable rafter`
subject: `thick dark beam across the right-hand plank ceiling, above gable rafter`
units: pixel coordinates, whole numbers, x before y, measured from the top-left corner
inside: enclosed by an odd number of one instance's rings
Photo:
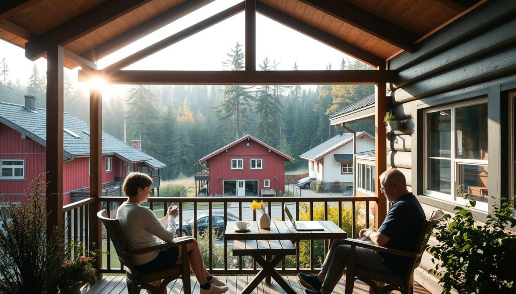
[[[417,34],[345,1],[299,0],[334,18],[360,28],[375,37],[413,53]]]

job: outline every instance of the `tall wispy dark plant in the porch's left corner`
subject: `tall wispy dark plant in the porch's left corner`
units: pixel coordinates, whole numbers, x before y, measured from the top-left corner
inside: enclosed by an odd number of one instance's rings
[[[43,176],[30,182],[26,203],[6,201],[0,210],[0,293],[57,292],[65,232],[60,226],[46,234]]]

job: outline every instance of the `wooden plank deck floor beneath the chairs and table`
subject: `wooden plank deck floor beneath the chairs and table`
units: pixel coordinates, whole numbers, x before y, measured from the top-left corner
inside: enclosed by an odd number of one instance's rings
[[[218,276],[220,280],[223,282],[226,282],[226,284],[229,286],[229,291],[227,294],[237,294],[240,293],[244,287],[247,285],[247,282],[250,281],[253,276],[252,275],[229,275],[229,276]],[[288,279],[288,282],[291,284],[292,288],[296,291],[296,293],[302,294],[304,293],[304,288],[299,284],[299,279],[297,275],[288,275],[286,276]],[[344,293],[344,282],[345,279],[343,278],[337,285],[337,287],[333,290],[333,293]],[[191,289],[192,294],[199,293],[199,283],[197,283],[197,280],[195,279],[195,276],[192,275],[191,278]],[[172,294],[181,294],[183,293],[183,282],[178,279],[173,282],[171,282],[168,285],[169,291],[168,293]],[[353,291],[353,294],[365,294],[368,293],[369,287],[362,282],[355,283],[355,289]],[[89,291],[83,291],[83,293],[88,294],[126,294],[127,293],[127,286],[125,284],[125,275],[105,275],[104,279],[97,284],[95,287],[93,287]],[[141,293],[145,293],[144,291],[141,291]],[[272,280],[272,283],[267,284],[265,282],[262,282],[258,286],[257,289],[254,290],[254,294],[285,294],[285,291],[281,289],[281,287]],[[397,291],[393,293],[399,293]],[[423,288],[419,284],[414,285],[414,294],[429,294],[425,288]]]

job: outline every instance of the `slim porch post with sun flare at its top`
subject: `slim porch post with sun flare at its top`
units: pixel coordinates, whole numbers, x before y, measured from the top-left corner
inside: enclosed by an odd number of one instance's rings
[[[102,93],[90,88],[90,197],[89,204],[90,249],[102,249],[101,222],[96,214],[101,210],[102,195]],[[107,207],[109,210],[109,207]],[[94,245],[93,245],[94,244]],[[95,268],[102,267],[102,254],[97,256]],[[99,275],[99,278],[101,275]]]

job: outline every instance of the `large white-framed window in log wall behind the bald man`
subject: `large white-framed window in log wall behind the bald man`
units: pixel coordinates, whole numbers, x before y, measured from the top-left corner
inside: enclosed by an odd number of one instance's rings
[[[425,195],[465,204],[460,186],[487,211],[487,99],[426,111],[425,136]]]

